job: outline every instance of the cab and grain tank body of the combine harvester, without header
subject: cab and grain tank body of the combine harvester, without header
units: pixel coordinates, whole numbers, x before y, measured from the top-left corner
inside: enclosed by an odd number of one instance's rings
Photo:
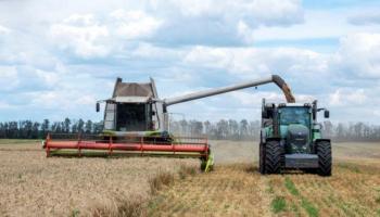
[[[157,99],[152,78],[145,84],[117,78],[112,98],[97,102],[97,112],[100,103],[105,102],[104,133],[122,136],[163,129],[163,106]]]

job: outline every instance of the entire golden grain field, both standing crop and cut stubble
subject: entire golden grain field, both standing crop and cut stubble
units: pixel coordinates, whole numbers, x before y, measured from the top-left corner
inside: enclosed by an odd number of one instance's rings
[[[334,144],[329,178],[261,176],[256,142],[212,144],[215,170],[200,174],[197,159],[46,158],[0,141],[0,216],[380,216],[380,143]],[[174,181],[153,191],[157,177]]]

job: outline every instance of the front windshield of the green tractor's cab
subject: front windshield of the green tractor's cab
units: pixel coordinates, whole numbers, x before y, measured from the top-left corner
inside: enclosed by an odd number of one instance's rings
[[[282,107],[280,108],[280,125],[299,124],[309,126],[311,114],[308,107]]]

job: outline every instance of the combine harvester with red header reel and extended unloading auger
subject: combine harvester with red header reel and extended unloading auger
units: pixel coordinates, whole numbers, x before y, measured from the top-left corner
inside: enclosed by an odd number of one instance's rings
[[[164,155],[197,157],[204,171],[213,167],[211,145],[206,138],[174,137],[168,129],[169,105],[221,94],[235,90],[275,82],[284,93],[288,103],[294,103],[289,86],[277,75],[229,87],[216,88],[161,100],[154,80],[148,84],[123,82],[116,79],[111,99],[105,103],[104,130],[99,136],[48,135],[43,142],[47,156],[52,155]]]

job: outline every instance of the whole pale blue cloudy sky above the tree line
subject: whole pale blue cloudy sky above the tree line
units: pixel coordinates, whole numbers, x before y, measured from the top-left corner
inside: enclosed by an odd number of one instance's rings
[[[380,1],[0,0],[0,122],[101,120],[116,77],[170,98],[271,74],[332,122],[378,124]],[[169,112],[254,120],[263,98],[284,101],[269,84]]]

